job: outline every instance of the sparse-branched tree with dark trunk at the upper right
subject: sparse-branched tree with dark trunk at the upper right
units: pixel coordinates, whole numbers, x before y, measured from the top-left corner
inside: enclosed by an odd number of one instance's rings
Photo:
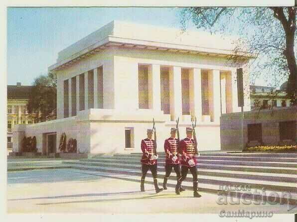
[[[265,73],[275,86],[288,79],[288,96],[297,105],[296,15],[296,7],[187,7],[180,22],[183,30],[192,22],[210,32],[238,35],[235,54],[256,55],[253,78]]]

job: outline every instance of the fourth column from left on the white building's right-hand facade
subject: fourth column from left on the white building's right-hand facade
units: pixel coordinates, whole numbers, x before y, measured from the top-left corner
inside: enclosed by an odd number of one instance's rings
[[[213,121],[219,123],[221,116],[220,70],[212,71]]]

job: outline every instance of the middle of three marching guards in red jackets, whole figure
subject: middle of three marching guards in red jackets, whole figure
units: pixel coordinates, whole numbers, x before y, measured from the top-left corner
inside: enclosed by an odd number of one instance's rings
[[[178,153],[179,141],[175,138],[176,128],[172,127],[170,130],[170,137],[165,139],[164,151],[166,154],[165,162],[165,176],[163,181],[163,189],[167,190],[166,184],[168,177],[171,174],[172,168],[176,173],[176,179],[180,179],[180,154]],[[180,186],[179,191],[184,191],[185,189]]]

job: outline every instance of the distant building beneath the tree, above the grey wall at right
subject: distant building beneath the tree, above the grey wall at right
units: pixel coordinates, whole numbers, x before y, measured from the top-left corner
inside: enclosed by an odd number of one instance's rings
[[[250,86],[251,110],[268,109],[271,107],[289,107],[290,99],[286,93],[286,83],[277,90],[275,87]]]

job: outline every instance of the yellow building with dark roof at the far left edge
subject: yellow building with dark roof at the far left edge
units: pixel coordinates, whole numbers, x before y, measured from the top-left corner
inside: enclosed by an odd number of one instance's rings
[[[27,102],[32,86],[7,86],[7,148],[12,149],[12,129],[17,124],[32,124],[32,113],[28,113]]]

